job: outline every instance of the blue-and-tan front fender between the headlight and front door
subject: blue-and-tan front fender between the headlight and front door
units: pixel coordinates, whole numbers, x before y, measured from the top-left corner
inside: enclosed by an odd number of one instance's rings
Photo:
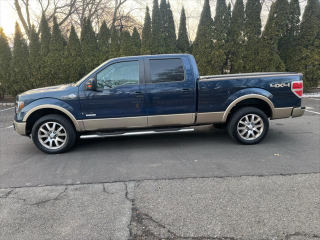
[[[78,99],[70,99],[66,102],[56,98],[40,98],[24,106],[17,114],[16,118],[25,122],[32,112],[42,108],[52,108],[62,111],[72,120],[77,131],[84,130],[82,119],[78,116],[81,112],[79,109]],[[77,120],[76,116],[81,120]]]

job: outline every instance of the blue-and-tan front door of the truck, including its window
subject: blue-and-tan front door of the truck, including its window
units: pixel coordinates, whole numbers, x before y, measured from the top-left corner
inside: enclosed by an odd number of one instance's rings
[[[143,60],[110,62],[94,77],[96,91],[79,89],[85,130],[147,126]]]

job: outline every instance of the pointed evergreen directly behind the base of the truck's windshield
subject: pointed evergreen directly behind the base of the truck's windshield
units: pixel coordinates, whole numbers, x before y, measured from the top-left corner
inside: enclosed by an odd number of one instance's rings
[[[64,71],[66,73],[65,82],[79,80],[85,73],[85,65],[81,54],[80,40],[71,25],[69,39],[64,50]]]

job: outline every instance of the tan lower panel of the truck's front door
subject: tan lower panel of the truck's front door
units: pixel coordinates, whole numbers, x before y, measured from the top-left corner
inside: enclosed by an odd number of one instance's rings
[[[130,127],[146,127],[146,116],[133,117],[116,117],[116,118],[100,118],[83,120],[83,125],[86,131],[98,129],[116,129]]]

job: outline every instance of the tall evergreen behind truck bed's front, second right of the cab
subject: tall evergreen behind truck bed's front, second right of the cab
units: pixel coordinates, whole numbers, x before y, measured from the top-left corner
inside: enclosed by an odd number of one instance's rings
[[[212,66],[215,74],[223,74],[223,66],[226,64],[225,43],[229,24],[229,13],[225,0],[217,0],[214,16]]]

